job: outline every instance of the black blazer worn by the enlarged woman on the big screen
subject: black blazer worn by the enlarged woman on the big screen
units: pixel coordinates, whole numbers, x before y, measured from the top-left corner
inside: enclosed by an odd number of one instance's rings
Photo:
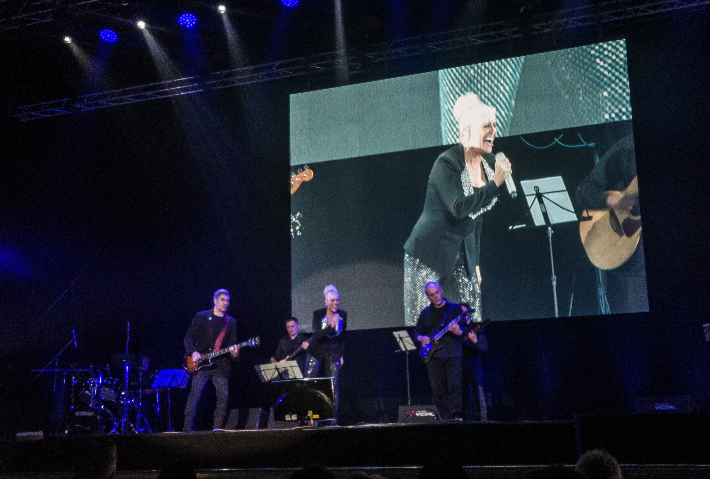
[[[491,165],[495,157],[486,153],[484,160]],[[439,155],[429,175],[424,211],[404,245],[407,253],[442,278],[454,270],[461,243],[466,250],[469,274],[474,274],[479,264],[482,215],[471,219],[469,214],[486,207],[499,194],[491,177],[486,186],[476,188],[474,194],[467,197],[461,184],[461,172],[465,168],[463,146],[456,145]]]

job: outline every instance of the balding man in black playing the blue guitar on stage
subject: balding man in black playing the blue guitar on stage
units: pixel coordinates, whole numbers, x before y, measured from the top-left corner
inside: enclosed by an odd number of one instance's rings
[[[414,329],[417,341],[430,343],[430,336],[442,326],[463,313],[463,309],[442,297],[442,288],[437,282],[427,282],[424,287],[431,304],[419,314],[417,326]],[[449,327],[449,332],[439,341],[442,345],[435,351],[427,363],[427,373],[432,385],[434,404],[439,409],[442,419],[450,419],[459,415],[463,409],[461,400],[461,340],[463,331],[459,324]]]

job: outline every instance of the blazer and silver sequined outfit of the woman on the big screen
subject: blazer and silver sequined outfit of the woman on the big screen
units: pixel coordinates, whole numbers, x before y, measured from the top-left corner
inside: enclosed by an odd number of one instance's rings
[[[405,324],[414,326],[429,299],[424,285],[437,281],[452,302],[467,302],[481,321],[479,264],[481,216],[498,201],[495,172],[484,155],[481,165],[487,184],[476,188],[461,145],[439,155],[427,185],[425,209],[405,243]],[[443,193],[442,193],[443,191]]]

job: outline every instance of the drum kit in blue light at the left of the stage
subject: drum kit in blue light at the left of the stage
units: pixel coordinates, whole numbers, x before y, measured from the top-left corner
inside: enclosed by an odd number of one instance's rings
[[[131,371],[129,381],[111,376],[111,365]],[[152,432],[143,415],[143,396],[155,395],[151,389],[154,375],[146,375],[150,361],[146,356],[121,353],[111,356],[104,367],[67,369],[67,414],[62,435],[128,434]],[[137,372],[137,374],[135,373]]]

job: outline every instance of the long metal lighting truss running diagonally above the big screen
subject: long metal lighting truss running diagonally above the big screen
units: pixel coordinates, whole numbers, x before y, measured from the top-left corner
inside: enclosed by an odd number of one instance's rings
[[[1,1],[0,5],[2,4]],[[327,70],[339,70],[344,67],[347,67],[350,71],[359,70],[364,63],[378,64],[417,55],[435,54],[445,50],[456,50],[473,45],[522,38],[528,35],[552,33],[570,28],[594,26],[600,23],[624,21],[658,13],[701,8],[708,5],[710,5],[710,0],[611,0],[594,6],[583,6],[539,14],[528,18],[528,21],[525,21],[524,24],[520,20],[515,23],[501,21],[394,40],[377,45],[376,48],[367,51],[364,55],[356,55],[355,50],[322,53],[311,57],[300,57],[292,60],[242,67],[235,70],[214,72],[204,79],[188,77],[168,82],[117,89],[111,92],[83,95],[73,102],[70,99],[62,99],[20,106],[13,116],[26,121],[64,115],[73,111],[87,111],[202,92],[204,89],[236,87]]]

